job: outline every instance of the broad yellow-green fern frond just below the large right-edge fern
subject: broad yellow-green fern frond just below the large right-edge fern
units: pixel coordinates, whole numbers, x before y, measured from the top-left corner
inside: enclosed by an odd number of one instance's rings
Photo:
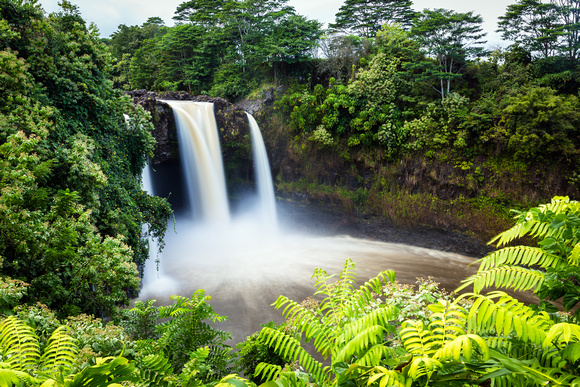
[[[496,291],[488,295],[472,293],[460,298],[468,296],[475,299],[467,316],[469,332],[505,336],[513,333],[520,340],[541,345],[546,331],[553,325],[546,313],[537,314],[504,292]]]

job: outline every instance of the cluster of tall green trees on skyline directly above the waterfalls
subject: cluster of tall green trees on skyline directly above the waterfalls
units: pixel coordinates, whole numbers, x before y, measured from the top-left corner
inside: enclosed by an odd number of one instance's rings
[[[186,1],[174,27],[160,21],[119,26],[111,38],[122,87],[185,90],[236,99],[260,81],[277,84],[310,60],[321,24],[296,15],[286,1]]]

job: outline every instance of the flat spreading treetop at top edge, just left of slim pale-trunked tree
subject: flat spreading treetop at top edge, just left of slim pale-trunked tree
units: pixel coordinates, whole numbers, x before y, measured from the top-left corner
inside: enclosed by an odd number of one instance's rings
[[[414,16],[411,0],[346,0],[330,28],[373,38],[385,23],[408,28]]]

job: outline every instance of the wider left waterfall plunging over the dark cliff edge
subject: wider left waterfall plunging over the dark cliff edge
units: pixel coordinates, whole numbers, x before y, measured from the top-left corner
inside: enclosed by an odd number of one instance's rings
[[[228,222],[230,212],[222,153],[213,104],[164,101],[177,125],[181,163],[185,172],[190,219]]]

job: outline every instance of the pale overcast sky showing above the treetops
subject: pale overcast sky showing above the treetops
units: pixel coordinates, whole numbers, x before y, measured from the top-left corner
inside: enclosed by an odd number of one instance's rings
[[[60,0],[40,0],[46,12],[59,10]],[[173,14],[177,6],[185,0],[71,0],[76,4],[83,19],[94,22],[103,37],[108,37],[117,30],[119,24],[128,26],[141,25],[151,16],[161,17],[166,25],[173,25]],[[344,0],[289,0],[296,11],[322,23],[334,21],[334,15]],[[497,29],[498,16],[504,15],[506,7],[515,0],[414,0],[413,9],[445,8],[456,12],[474,11],[484,20],[484,29],[488,33],[488,45],[501,43],[494,31]]]

